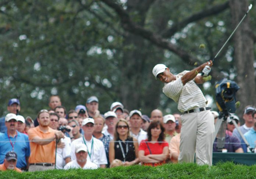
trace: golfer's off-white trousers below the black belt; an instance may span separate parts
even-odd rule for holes
[[[192,112],[181,116],[181,143],[179,162],[212,165],[214,117],[210,110]]]

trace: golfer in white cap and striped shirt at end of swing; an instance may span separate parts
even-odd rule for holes
[[[196,84],[204,83],[204,78],[210,72],[210,60],[192,71],[183,71],[173,75],[164,64],[157,64],[153,68],[153,75],[164,83],[163,93],[178,103],[181,116],[181,143],[179,162],[194,162],[199,165],[212,164],[212,150],[214,138],[214,118],[210,107],[206,107],[207,100]],[[204,76],[199,74],[202,71]]]

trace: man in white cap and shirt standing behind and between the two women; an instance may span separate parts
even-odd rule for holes
[[[147,132],[141,129],[142,124],[142,114],[141,111],[133,110],[129,114],[130,116],[130,124],[131,124],[131,130],[130,135],[132,137],[135,137],[135,139],[138,140],[139,143],[141,143],[142,140],[147,139]]]

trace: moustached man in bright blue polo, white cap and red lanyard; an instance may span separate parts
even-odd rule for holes
[[[28,158],[30,147],[28,136],[17,131],[17,116],[9,113],[5,117],[7,131],[0,135],[0,164],[3,164],[5,154],[8,151],[15,151],[18,154],[17,168],[28,169]]]

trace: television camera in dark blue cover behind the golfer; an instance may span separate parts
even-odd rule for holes
[[[216,105],[222,115],[228,116],[229,113],[236,111],[236,92],[240,89],[236,82],[224,78],[215,85]],[[220,115],[221,115],[220,114]]]

